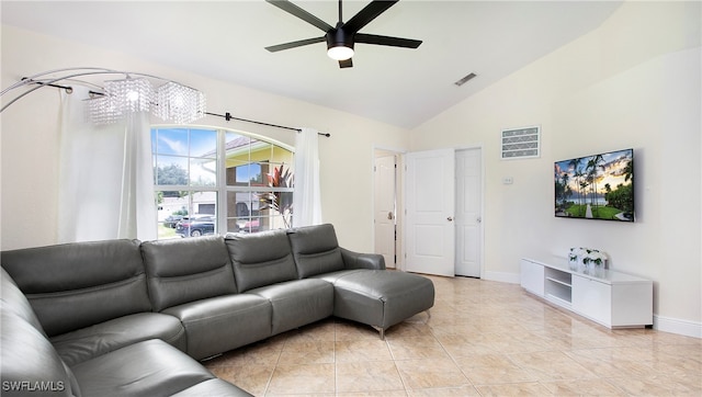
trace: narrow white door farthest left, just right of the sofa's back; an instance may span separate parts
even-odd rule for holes
[[[385,265],[388,268],[396,266],[395,165],[395,156],[384,156],[375,159],[374,168],[375,253],[385,258]]]

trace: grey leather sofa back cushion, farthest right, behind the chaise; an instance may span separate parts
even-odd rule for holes
[[[287,231],[301,279],[344,269],[333,226],[316,225]]]

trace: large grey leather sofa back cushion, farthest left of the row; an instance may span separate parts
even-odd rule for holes
[[[49,337],[151,310],[138,240],[4,251],[1,261]]]

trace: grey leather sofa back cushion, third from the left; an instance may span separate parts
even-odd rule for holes
[[[297,279],[285,230],[230,234],[225,242],[239,292]]]

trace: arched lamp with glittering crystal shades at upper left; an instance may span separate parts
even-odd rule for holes
[[[124,78],[106,80],[102,86],[78,80],[95,75],[117,75]],[[71,87],[59,84],[64,80],[99,87],[99,90],[90,91],[90,99],[86,101],[87,116],[94,124],[117,123],[129,114],[140,112],[150,112],[165,122],[178,124],[192,123],[205,116],[205,94],[199,90],[152,75],[93,67],[50,70],[23,78],[2,90],[1,94],[4,95],[16,89],[26,89],[9,101],[0,112],[42,87],[61,88],[71,93]],[[155,82],[160,83],[156,89]]]

